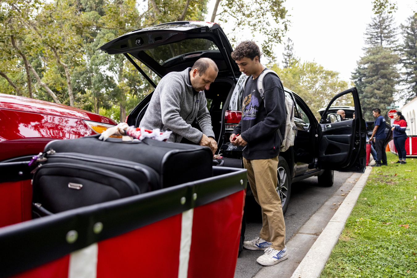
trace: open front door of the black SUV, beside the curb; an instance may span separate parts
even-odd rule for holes
[[[330,106],[349,104],[355,118],[328,113]],[[341,112],[342,114],[344,112]],[[337,94],[327,105],[319,123],[318,165],[326,170],[363,173],[366,158],[366,128],[356,88]]]

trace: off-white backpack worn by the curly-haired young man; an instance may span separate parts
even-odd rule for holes
[[[273,70],[266,69],[264,70],[258,78],[257,86],[259,94],[261,95],[261,98],[264,99],[264,77],[267,73],[272,73],[276,75],[279,79],[278,74],[274,72]],[[243,85],[243,88],[245,88],[246,83],[248,82],[249,78],[251,76],[248,76],[245,80],[245,83]],[[279,83],[281,83],[281,79],[279,79]],[[284,86],[281,83],[282,90],[284,90]],[[281,132],[278,132],[279,138],[281,139],[281,148],[279,149],[281,152],[285,152],[288,150],[289,147],[294,145],[295,137],[297,136],[297,127],[294,123],[294,101],[291,99],[290,96],[285,95],[285,112],[286,112],[286,118],[285,118],[285,131],[284,131],[284,137],[282,136]],[[264,102],[265,104],[265,102]]]

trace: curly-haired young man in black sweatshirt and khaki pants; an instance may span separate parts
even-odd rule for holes
[[[256,261],[261,265],[275,265],[288,258],[284,215],[276,191],[281,146],[278,133],[283,134],[281,128],[286,119],[284,88],[278,76],[267,73],[263,81],[264,98],[261,97],[256,83],[266,68],[261,64],[261,52],[255,42],[240,43],[231,57],[239,70],[251,78],[244,88],[242,120],[230,135],[230,142],[244,146],[243,163],[249,185],[262,208],[259,237],[245,241],[243,246],[250,250],[265,250]],[[235,135],[238,136],[234,138]]]

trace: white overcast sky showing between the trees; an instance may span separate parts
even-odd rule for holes
[[[356,68],[356,61],[363,55],[364,32],[374,16],[371,0],[286,0],[284,6],[291,15],[291,26],[286,37],[294,43],[294,52],[301,61],[316,61],[327,70],[335,70],[346,81]],[[209,0],[210,20],[215,0]],[[417,10],[415,0],[398,0],[394,13],[397,25]],[[216,20],[215,20],[216,21]],[[230,27],[221,25],[226,33]],[[228,30],[229,29],[229,30]],[[251,39],[242,37],[241,40]],[[286,38],[284,39],[286,41]],[[276,48],[279,62],[284,45]],[[281,63],[280,63],[281,64]]]

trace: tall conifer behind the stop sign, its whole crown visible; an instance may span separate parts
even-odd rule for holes
[[[399,56],[395,53],[397,30],[392,15],[378,14],[367,27],[365,55],[352,73],[357,87],[365,120],[373,120],[372,109],[380,108],[381,115],[387,117],[387,109],[397,91],[399,82],[397,64]]]

